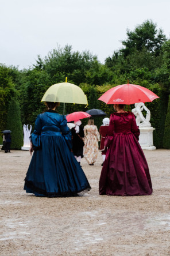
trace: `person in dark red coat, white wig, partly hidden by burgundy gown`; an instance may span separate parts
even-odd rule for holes
[[[107,151],[107,148],[105,146],[105,138],[108,131],[108,127],[109,127],[109,118],[104,118],[103,125],[99,129],[99,134],[101,135],[100,150],[102,152],[103,163],[105,161],[106,151]],[[102,166],[103,166],[103,163],[102,163]]]

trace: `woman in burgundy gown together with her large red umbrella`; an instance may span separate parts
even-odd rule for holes
[[[140,85],[118,85],[98,100],[113,104],[109,131],[105,140],[106,159],[99,179],[99,194],[150,195],[152,182],[144,152],[138,142],[140,130],[133,112],[125,104],[151,102],[159,97]]]

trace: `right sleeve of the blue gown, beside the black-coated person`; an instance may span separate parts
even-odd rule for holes
[[[67,142],[68,148],[72,149],[71,130],[67,126],[67,119],[64,117],[64,115],[61,116],[60,131]]]

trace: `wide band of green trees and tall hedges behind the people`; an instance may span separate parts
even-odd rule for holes
[[[29,69],[0,65],[0,129],[6,129],[7,109],[11,99],[17,98],[21,106],[22,125],[34,126],[36,116],[44,111],[42,96],[49,86],[64,82],[76,84],[87,95],[88,108],[83,104],[65,104],[65,114],[99,108],[109,117],[113,106],[97,99],[108,89],[119,84],[142,85],[160,99],[146,103],[151,112],[151,123],[156,128],[154,143],[163,147],[165,119],[168,96],[170,93],[170,41],[163,30],[151,20],[137,25],[133,31],[127,29],[127,38],[122,41],[122,48],[114,51],[103,65],[89,51],[73,51],[72,46],[57,46],[42,58],[37,56],[36,63]],[[130,110],[133,105],[130,106]],[[63,114],[63,103],[58,108]],[[87,119],[83,120],[86,124]],[[95,119],[98,127],[101,119]],[[167,126],[166,126],[167,127]],[[167,128],[166,128],[167,129]]]

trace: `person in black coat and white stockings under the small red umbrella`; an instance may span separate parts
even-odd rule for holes
[[[72,153],[74,153],[74,156],[78,163],[80,164],[80,161],[83,157],[83,137],[84,137],[84,131],[82,122],[80,120],[77,120],[74,122],[75,127],[71,129],[72,133]]]

